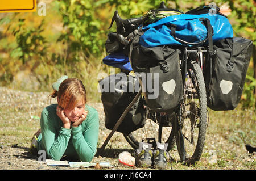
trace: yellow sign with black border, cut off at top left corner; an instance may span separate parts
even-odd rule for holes
[[[36,11],[36,0],[0,0],[0,12]]]

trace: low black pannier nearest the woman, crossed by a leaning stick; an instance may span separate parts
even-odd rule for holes
[[[137,78],[131,75],[118,73],[99,81],[99,86],[105,112],[105,127],[112,130],[126,107],[137,95],[139,82]],[[146,111],[144,111],[143,103],[144,99],[140,96],[122,120],[117,129],[118,132],[130,133],[144,127]]]

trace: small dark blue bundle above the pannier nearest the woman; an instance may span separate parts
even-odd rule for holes
[[[103,63],[106,65],[113,66],[114,68],[133,70],[129,62],[128,56],[123,53],[112,53],[103,58]]]

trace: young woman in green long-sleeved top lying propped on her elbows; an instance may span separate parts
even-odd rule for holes
[[[43,109],[32,152],[45,150],[48,159],[90,162],[97,148],[98,112],[86,104],[86,90],[79,79],[64,76],[52,87],[50,96],[57,97],[57,104]]]

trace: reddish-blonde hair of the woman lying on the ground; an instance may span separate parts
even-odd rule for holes
[[[61,82],[59,90],[53,91],[52,98],[59,98],[59,106],[63,109],[72,109],[82,100],[86,104],[86,90],[82,81],[77,78],[67,78]]]

